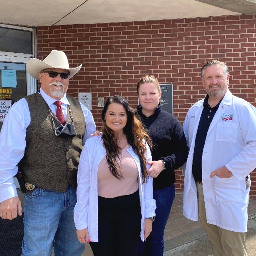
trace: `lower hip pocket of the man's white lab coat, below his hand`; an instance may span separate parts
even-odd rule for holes
[[[235,176],[230,178],[219,178],[215,176],[214,189],[216,201],[239,202],[242,200],[240,181]]]

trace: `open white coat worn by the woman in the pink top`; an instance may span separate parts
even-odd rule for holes
[[[128,148],[138,168],[139,196],[141,206],[141,240],[144,241],[144,219],[155,216],[156,203],[153,199],[153,178],[149,177],[142,183],[140,159]],[[88,139],[81,152],[77,174],[77,203],[74,208],[74,221],[76,229],[88,227],[90,240],[98,242],[98,165],[106,156],[101,136]],[[146,159],[151,161],[150,148],[146,144]],[[150,165],[147,165],[147,170]]]

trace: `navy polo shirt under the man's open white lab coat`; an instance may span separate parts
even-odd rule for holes
[[[194,155],[193,155],[193,163],[192,163],[192,174],[195,181],[202,181],[202,154],[203,149],[205,146],[206,135],[208,133],[210,124],[212,119],[219,108],[220,102],[211,108],[208,103],[209,95],[206,96],[204,103],[203,103],[203,111],[200,117],[200,122],[198,125],[196,138],[195,138],[195,148],[194,148]]]

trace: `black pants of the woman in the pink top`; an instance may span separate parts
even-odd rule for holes
[[[98,242],[94,256],[134,256],[141,232],[139,191],[115,198],[98,196]]]

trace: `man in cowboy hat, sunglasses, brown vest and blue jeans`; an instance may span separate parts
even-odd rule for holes
[[[39,92],[16,102],[0,135],[0,217],[22,214],[13,176],[25,182],[23,256],[80,256],[73,209],[79,156],[96,129],[91,112],[66,95],[69,68],[64,52],[53,50],[43,61],[27,62],[27,71],[41,82]],[[86,127],[86,129],[85,129]],[[18,166],[18,167],[17,167]]]

